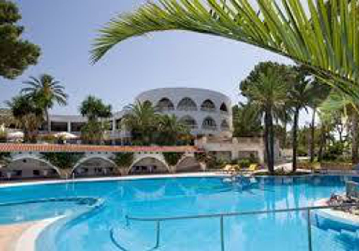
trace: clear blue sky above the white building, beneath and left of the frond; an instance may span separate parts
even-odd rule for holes
[[[24,37],[39,44],[42,56],[16,80],[0,77],[0,106],[16,95],[29,76],[49,73],[60,80],[69,104],[52,113],[76,114],[87,95],[96,95],[114,110],[141,91],[171,86],[208,88],[239,101],[239,82],[260,61],[292,61],[246,44],[187,32],[153,33],[129,39],[90,65],[89,50],[97,29],[117,13],[144,0],[17,0]]]

